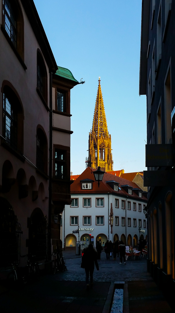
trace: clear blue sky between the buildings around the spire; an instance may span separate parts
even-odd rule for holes
[[[85,80],[71,90],[73,175],[86,168],[99,76],[114,170],[146,170],[146,96],[139,96],[141,0],[34,3],[57,64]]]

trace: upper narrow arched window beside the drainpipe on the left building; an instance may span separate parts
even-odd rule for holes
[[[37,87],[36,90],[40,95],[41,100],[47,104],[47,71],[44,60],[40,54],[37,53]]]

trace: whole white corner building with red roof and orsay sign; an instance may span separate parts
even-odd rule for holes
[[[135,183],[106,174],[98,188],[93,169],[87,168],[71,185],[71,205],[62,217],[62,241],[65,249],[81,248],[85,241],[123,240],[136,246],[139,238],[147,239],[147,221],[143,212],[146,194]],[[77,190],[77,192],[73,192]],[[78,233],[73,233],[74,230]],[[140,232],[139,232],[140,230]]]

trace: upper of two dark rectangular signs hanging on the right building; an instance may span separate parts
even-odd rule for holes
[[[145,145],[146,167],[173,166],[173,144]]]

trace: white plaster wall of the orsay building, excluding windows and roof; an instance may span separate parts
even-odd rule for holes
[[[103,198],[104,197],[104,207],[96,207],[95,206],[95,198]],[[94,236],[94,242],[96,240],[97,235],[100,233],[106,234],[108,237],[108,223],[109,223],[109,215],[110,215],[110,210],[111,210],[111,203],[113,207],[113,213],[114,213],[114,222],[113,222],[113,227],[112,227],[112,234],[111,234],[111,225],[109,225],[109,240],[113,241],[115,233],[118,234],[119,239],[121,238],[122,234],[125,234],[128,236],[130,234],[132,236],[132,243],[133,243],[133,237],[136,234],[139,239],[139,230],[138,230],[138,219],[142,219],[142,228],[145,230],[145,233],[140,233],[143,234],[144,238],[147,235],[147,229],[143,228],[143,220],[145,219],[145,215],[143,213],[143,204],[146,204],[145,202],[140,202],[136,199],[129,199],[131,201],[131,210],[123,210],[121,209],[121,199],[124,200],[125,197],[116,197],[114,195],[109,195],[109,215],[108,215],[108,195],[105,194],[98,194],[98,195],[90,195],[90,194],[72,194],[71,198],[78,198],[78,208],[71,208],[69,205],[65,206],[64,212],[63,212],[63,244],[64,244],[64,233],[65,237],[68,234],[72,234],[72,231],[77,229],[77,225],[72,225],[70,226],[70,216],[78,216],[79,220],[79,228],[91,228],[90,231],[84,231],[80,230],[80,238],[83,234],[85,233],[91,233],[92,236]],[[83,198],[91,198],[91,208],[83,208]],[[115,208],[115,198],[119,198],[119,206],[120,208]],[[132,210],[132,203],[136,202],[137,203],[137,211]],[[142,203],[142,212],[138,212],[138,203]],[[125,217],[126,214],[126,223],[127,223],[127,218],[131,218],[131,227],[128,227],[126,224],[125,226],[121,226],[121,217]],[[104,225],[96,225],[96,216],[104,216]],[[64,221],[64,216],[65,216],[65,221]],[[84,225],[83,226],[83,216],[92,216],[92,223],[91,225]],[[115,226],[115,216],[119,216],[119,226]],[[137,219],[137,227],[133,227],[133,218]],[[64,225],[65,225],[65,232],[64,232]],[[93,230],[92,230],[93,229]],[[78,234],[75,234],[77,237],[77,242],[78,242]]]

